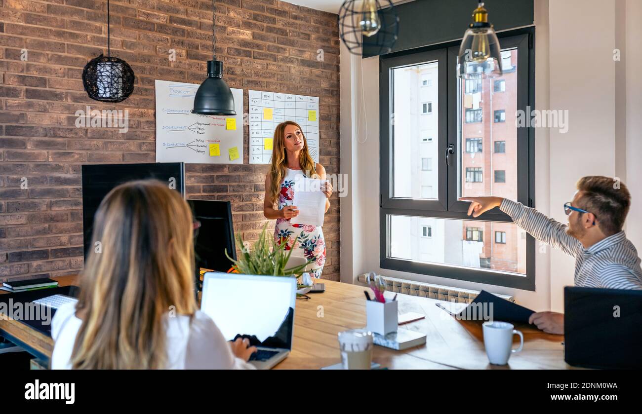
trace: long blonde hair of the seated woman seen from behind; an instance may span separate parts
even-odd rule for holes
[[[82,272],[74,369],[165,367],[168,312],[196,311],[192,235],[191,211],[167,184],[128,182],[105,196]]]

